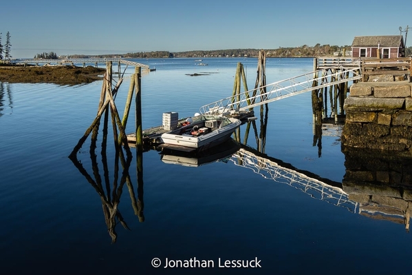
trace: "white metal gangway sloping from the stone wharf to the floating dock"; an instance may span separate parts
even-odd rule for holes
[[[360,60],[338,63],[297,77],[264,85],[253,90],[226,97],[200,108],[202,114],[228,114],[248,110],[289,96],[318,90],[339,83],[361,79]]]

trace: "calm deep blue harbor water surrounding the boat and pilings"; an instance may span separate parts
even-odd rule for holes
[[[238,62],[245,66],[249,88],[256,79],[257,59],[137,61],[156,68],[142,76],[144,128],[161,125],[163,112],[191,116],[230,96]],[[267,83],[310,72],[312,62],[268,59]],[[120,114],[132,72],[126,70],[116,98]],[[193,73],[204,75],[188,75]],[[101,86],[102,81],[0,83],[2,274],[398,274],[409,269],[412,236],[403,222],[359,214],[358,203],[336,199],[334,192],[343,194],[340,188],[326,191],[329,185],[309,180],[324,189],[321,194],[291,183],[292,177],[306,181],[303,174],[311,174],[341,187],[347,170],[338,129],[322,136],[321,148],[314,144],[310,93],[269,104],[265,154],[256,152],[250,130],[248,147],[198,167],[168,163],[155,150],[144,152],[138,179],[135,150],[124,170],[111,138],[106,154],[100,152],[101,134],[94,153],[88,139],[78,163],[67,157],[96,116]],[[259,108],[254,111],[259,136]],[[127,132],[135,127],[133,112],[130,117]],[[243,141],[246,125],[240,131]],[[254,165],[258,156],[269,164]],[[276,161],[289,165],[283,169]],[[293,174],[290,165],[303,174]],[[131,183],[122,183],[122,174]],[[160,267],[153,267],[158,260]],[[238,267],[242,264],[248,267]]]

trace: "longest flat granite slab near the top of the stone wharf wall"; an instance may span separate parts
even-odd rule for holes
[[[354,111],[372,111],[372,110],[396,110],[401,109],[404,105],[404,98],[376,98],[376,97],[356,97],[348,96],[345,99],[343,108]]]

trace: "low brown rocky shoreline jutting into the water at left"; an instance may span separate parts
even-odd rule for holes
[[[106,69],[74,65],[23,66],[0,64],[0,82],[79,85],[103,78]]]

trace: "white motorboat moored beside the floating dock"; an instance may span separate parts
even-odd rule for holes
[[[241,121],[225,116],[198,115],[183,124],[162,134],[160,147],[182,151],[205,150],[227,141]]]

